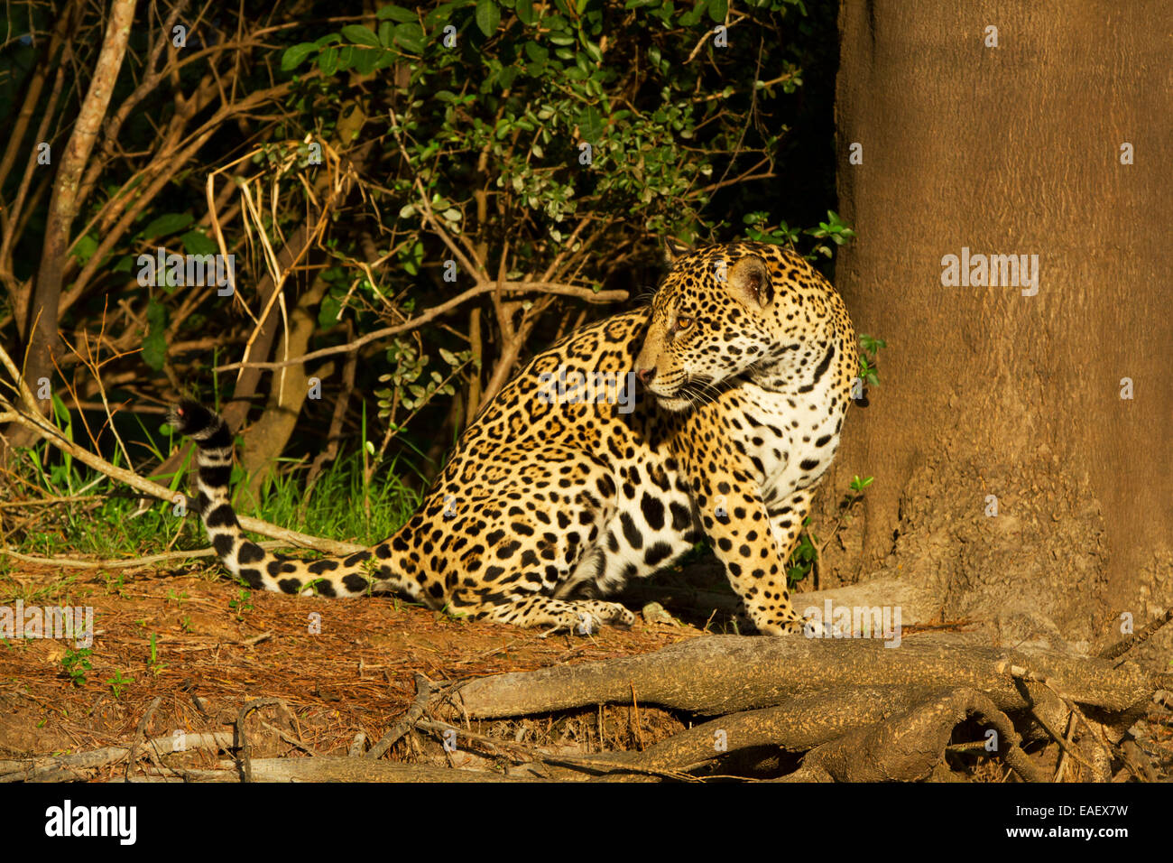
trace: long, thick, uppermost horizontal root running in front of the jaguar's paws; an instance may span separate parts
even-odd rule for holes
[[[642,703],[705,715],[875,686],[968,686],[985,692],[998,709],[1026,709],[1032,703],[1028,692],[1042,683],[1017,680],[1011,667],[1037,668],[1069,699],[1112,712],[1147,702],[1168,676],[1132,663],[975,647],[937,633],[906,640],[897,649],[875,640],[713,635],[643,656],[497,674],[467,683],[460,694],[468,715],[482,719],[626,703],[632,687]]]

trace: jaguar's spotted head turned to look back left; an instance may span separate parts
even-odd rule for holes
[[[636,375],[662,407],[708,402],[772,358],[778,285],[767,256],[758,244],[731,243],[671,258],[636,358]]]

